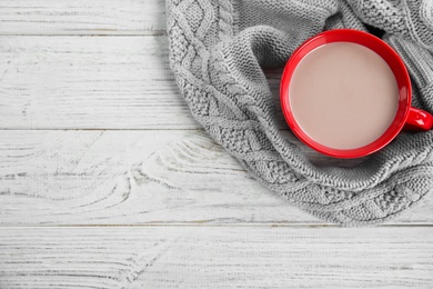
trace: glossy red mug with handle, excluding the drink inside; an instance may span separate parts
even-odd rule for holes
[[[290,82],[296,66],[313,49],[333,42],[351,42],[361,44],[377,53],[391,68],[399,88],[399,103],[395,118],[385,132],[375,141],[354,149],[335,149],[315,141],[301,128],[293,116],[290,103]],[[324,155],[335,158],[361,158],[371,155],[390,143],[404,128],[426,131],[433,127],[433,116],[426,111],[411,107],[411,79],[400,56],[383,40],[370,33],[352,30],[330,30],[310,38],[301,44],[289,59],[281,79],[280,101],[284,118],[293,133],[305,144]]]

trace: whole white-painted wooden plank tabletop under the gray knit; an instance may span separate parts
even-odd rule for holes
[[[273,196],[191,118],[164,10],[0,0],[0,288],[433,288],[432,196],[364,229]]]

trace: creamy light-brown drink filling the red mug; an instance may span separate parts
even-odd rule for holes
[[[321,46],[296,66],[289,101],[301,129],[334,149],[355,149],[380,138],[392,123],[399,88],[387,63],[350,42]]]

